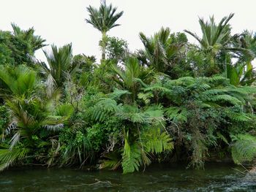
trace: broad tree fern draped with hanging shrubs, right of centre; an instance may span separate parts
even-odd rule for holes
[[[191,154],[190,165],[193,166],[203,166],[208,148],[217,147],[219,134],[227,134],[222,126],[252,124],[250,115],[241,106],[252,101],[248,95],[255,93],[255,89],[236,88],[229,85],[225,77],[163,78],[146,86],[143,91],[164,101],[162,105],[165,106],[172,137],[176,137],[177,145],[182,141],[181,147],[187,148]]]

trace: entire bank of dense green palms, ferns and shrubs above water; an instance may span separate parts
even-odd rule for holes
[[[34,53],[34,28],[0,31],[0,169],[42,164],[145,169],[154,162],[256,157],[256,35],[231,34],[233,14],[192,31],[140,33],[135,53],[107,32],[123,12],[102,1],[86,22],[102,33],[102,59],[72,45]],[[83,19],[83,18],[82,18]],[[198,44],[191,44],[192,35]]]

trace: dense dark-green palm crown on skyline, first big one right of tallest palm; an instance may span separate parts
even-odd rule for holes
[[[170,34],[170,28],[161,28],[152,37],[146,37],[140,32],[140,39],[145,47],[140,53],[146,57],[147,65],[153,66],[157,72],[170,74],[170,69],[177,63],[186,40],[178,40],[175,34]]]

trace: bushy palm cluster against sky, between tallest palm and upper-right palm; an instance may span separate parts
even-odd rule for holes
[[[185,53],[185,44],[187,37],[183,33],[170,34],[170,28],[161,28],[159,32],[152,37],[146,37],[140,33],[140,39],[143,42],[145,50],[138,52],[138,58],[146,66],[153,66],[157,72],[165,72],[172,77],[176,77],[174,70],[189,70],[181,62]]]

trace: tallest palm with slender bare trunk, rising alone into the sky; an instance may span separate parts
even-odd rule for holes
[[[102,40],[99,42],[99,45],[102,47],[102,60],[105,59],[107,32],[111,28],[120,26],[120,24],[116,24],[116,20],[124,14],[123,11],[116,13],[116,9],[117,7],[113,7],[112,4],[107,5],[105,0],[101,2],[99,9],[91,6],[87,7],[90,18],[86,19],[86,22],[102,33]]]

